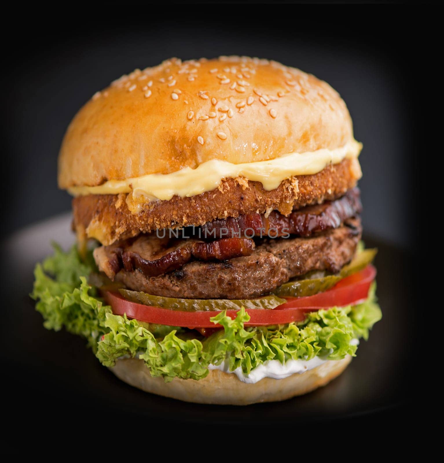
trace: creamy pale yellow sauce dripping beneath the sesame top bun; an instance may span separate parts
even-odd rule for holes
[[[86,194],[131,193],[137,202],[170,200],[212,191],[224,178],[243,177],[249,181],[260,181],[267,191],[277,188],[283,180],[294,175],[317,174],[329,164],[338,164],[345,158],[356,158],[362,144],[352,140],[334,150],[322,149],[305,153],[288,153],[269,161],[232,164],[212,159],[196,169],[186,167],[171,174],[150,174],[126,180],[108,180],[96,187],[72,187],[74,196]]]

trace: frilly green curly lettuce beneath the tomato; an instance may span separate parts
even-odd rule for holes
[[[381,319],[375,301],[375,285],[364,303],[332,307],[307,314],[303,322],[275,326],[245,327],[250,317],[244,308],[235,319],[221,312],[211,320],[223,330],[208,338],[186,329],[150,325],[126,315],[114,315],[104,305],[87,276],[95,271],[90,256],[83,262],[75,248],[55,253],[37,264],[31,297],[47,329],[69,332],[87,339],[100,362],[113,367],[119,357],[142,359],[152,376],[165,381],[178,377],[199,380],[208,375],[208,365],[228,360],[231,371],[241,367],[245,374],[268,360],[324,356],[339,360],[356,355],[356,338],[367,339],[369,330]],[[49,276],[51,275],[51,276]]]

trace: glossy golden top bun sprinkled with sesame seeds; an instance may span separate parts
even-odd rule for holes
[[[353,138],[344,101],[299,69],[246,57],[165,61],[98,92],[59,156],[61,188],[334,149]]]

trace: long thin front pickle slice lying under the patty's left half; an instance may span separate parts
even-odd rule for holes
[[[119,289],[126,299],[145,306],[161,307],[183,312],[219,311],[246,309],[274,309],[287,301],[276,295],[263,296],[257,299],[176,299],[174,297],[153,296],[152,294]]]

